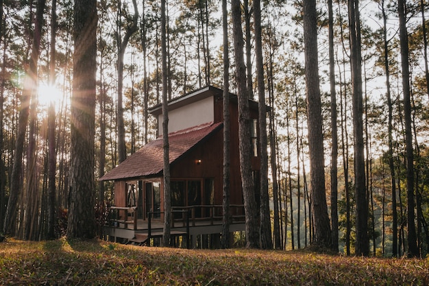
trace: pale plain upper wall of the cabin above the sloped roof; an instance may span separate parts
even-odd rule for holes
[[[212,122],[215,119],[213,97],[207,97],[169,111],[169,133]],[[158,116],[158,134],[162,135],[162,114]]]

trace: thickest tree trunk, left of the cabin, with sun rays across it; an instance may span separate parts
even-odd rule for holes
[[[69,238],[92,239],[97,230],[94,217],[97,21],[96,0],[75,0]]]

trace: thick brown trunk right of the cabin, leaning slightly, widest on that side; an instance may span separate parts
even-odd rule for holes
[[[325,171],[323,160],[323,133],[319,68],[317,58],[316,1],[304,1],[304,53],[306,65],[306,93],[308,120],[308,147],[310,149],[310,178],[314,228],[312,243],[331,246],[331,228],[326,204]]]

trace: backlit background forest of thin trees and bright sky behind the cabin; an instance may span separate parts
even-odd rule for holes
[[[14,184],[20,191],[10,235],[31,240],[60,237],[69,208],[73,1],[0,3],[0,224],[5,221]],[[265,94],[273,108],[269,156],[274,176],[269,178],[269,191],[271,214],[279,218],[273,224],[280,225],[280,245],[275,247],[304,248],[312,242],[313,230],[302,3],[277,0],[261,4]],[[352,45],[347,4],[318,1],[317,40],[328,209],[338,209],[338,225],[333,224],[332,229],[339,234],[339,250],[354,254]],[[365,0],[358,5],[368,233],[371,254],[401,256],[408,251],[407,211],[412,211],[419,254],[424,256],[429,241],[428,3],[406,3],[410,110],[404,106],[397,4]],[[247,93],[256,100],[254,9],[252,1],[241,5]],[[101,0],[97,14],[97,189],[91,191],[97,206],[102,206],[112,201],[113,185],[97,178],[156,138],[155,119],[147,109],[161,102],[162,53],[159,1]],[[207,85],[223,88],[221,19],[221,1],[168,1],[169,99]],[[232,23],[228,25],[232,33]],[[230,55],[234,55],[233,47],[230,43]],[[230,63],[230,91],[234,93],[234,58]],[[27,94],[24,87],[32,73],[38,87]],[[20,114],[25,112],[23,122]],[[414,204],[407,200],[406,112],[412,119]],[[16,150],[20,138],[21,151]],[[22,154],[22,159],[16,154]],[[16,160],[22,165],[14,164]],[[335,176],[330,175],[332,170]],[[12,180],[14,171],[21,174],[18,182]],[[52,209],[55,222],[49,221]],[[273,210],[278,211],[276,215]],[[330,217],[332,220],[331,213]],[[56,233],[49,233],[49,224],[55,224]]]

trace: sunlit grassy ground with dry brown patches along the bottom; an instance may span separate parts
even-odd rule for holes
[[[429,259],[8,238],[0,285],[429,285]]]

